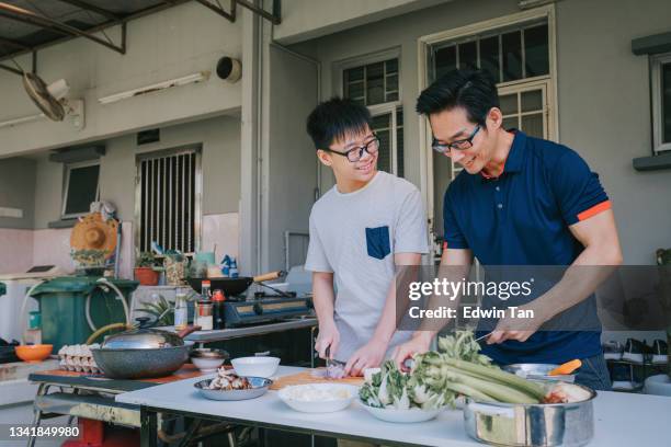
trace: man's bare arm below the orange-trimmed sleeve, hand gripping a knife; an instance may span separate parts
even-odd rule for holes
[[[619,238],[611,209],[578,221],[569,229],[584,245],[582,253],[567,268],[559,283],[543,296],[522,306],[523,309],[534,312],[534,318],[525,322],[528,326],[521,328],[519,320],[502,319],[497,330],[487,339],[487,343],[501,343],[505,340],[526,341],[543,323],[592,295],[611,275],[614,267],[622,264]]]

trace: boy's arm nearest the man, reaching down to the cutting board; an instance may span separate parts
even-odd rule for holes
[[[421,259],[422,255],[419,253],[396,253],[394,255],[396,265],[419,265]],[[348,359],[345,374],[361,376],[364,369],[378,367],[385,358],[394,332],[396,332],[396,280],[389,285],[385,307],[373,337]]]

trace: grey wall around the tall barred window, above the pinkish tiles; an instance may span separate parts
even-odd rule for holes
[[[203,145],[203,214],[237,213],[240,200],[240,121],[219,116],[161,128],[161,140],[138,147],[135,134],[105,141],[100,164],[100,196],[112,202],[122,220],[134,220],[135,156],[137,153]],[[37,163],[35,228],[60,218],[62,163],[43,158]]]

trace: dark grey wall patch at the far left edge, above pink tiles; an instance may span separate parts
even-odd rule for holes
[[[0,208],[14,208],[23,217],[2,217],[0,228],[33,228],[35,161],[24,158],[0,160]]]

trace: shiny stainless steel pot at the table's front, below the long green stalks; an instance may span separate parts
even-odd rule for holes
[[[509,404],[466,399],[466,433],[484,443],[505,446],[583,446],[594,435],[592,400],[576,403]]]

